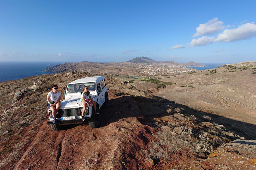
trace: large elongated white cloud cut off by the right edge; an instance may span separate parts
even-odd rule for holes
[[[238,28],[226,29],[218,35],[214,42],[235,42],[239,40],[246,40],[256,36],[256,25],[254,23],[247,23]]]

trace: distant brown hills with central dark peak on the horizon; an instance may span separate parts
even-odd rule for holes
[[[193,62],[193,61],[191,61]],[[205,64],[194,63],[196,66],[205,66]],[[190,65],[189,65],[190,66]],[[136,57],[129,61],[124,62],[112,62],[112,63],[100,63],[100,62],[76,62],[76,63],[64,63],[55,66],[48,67],[43,71],[51,71],[55,73],[82,71],[88,72],[93,75],[120,75],[120,76],[135,76],[139,75],[139,72],[152,72],[152,67],[155,70],[160,69],[174,69],[177,67],[179,70],[191,71],[186,68],[183,63],[176,63],[175,61],[155,61],[148,57]],[[153,71],[154,72],[154,71]],[[166,74],[168,71],[157,74]],[[175,72],[174,72],[175,73]]]

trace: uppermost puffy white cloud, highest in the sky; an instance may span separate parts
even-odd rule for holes
[[[217,17],[213,18],[212,20],[209,20],[205,24],[199,24],[199,27],[196,28],[197,32],[192,37],[218,33],[219,31],[225,28],[222,24],[223,22],[218,21]]]

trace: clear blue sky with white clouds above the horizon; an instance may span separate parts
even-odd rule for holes
[[[256,1],[0,1],[0,61],[256,61]]]

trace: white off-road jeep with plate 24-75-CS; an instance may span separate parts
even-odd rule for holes
[[[62,125],[85,123],[81,115],[83,106],[80,106],[81,94],[83,87],[88,86],[92,100],[97,104],[97,112],[100,113],[101,107],[108,108],[108,89],[104,76],[85,77],[75,80],[68,84],[65,92],[65,100],[61,102],[61,107],[57,112],[57,123],[53,124],[52,112],[49,109],[48,115],[50,121],[47,122],[53,130],[60,130]],[[87,104],[84,113],[85,121],[88,121],[90,128],[97,128],[100,121],[100,114],[94,113],[93,104]]]

